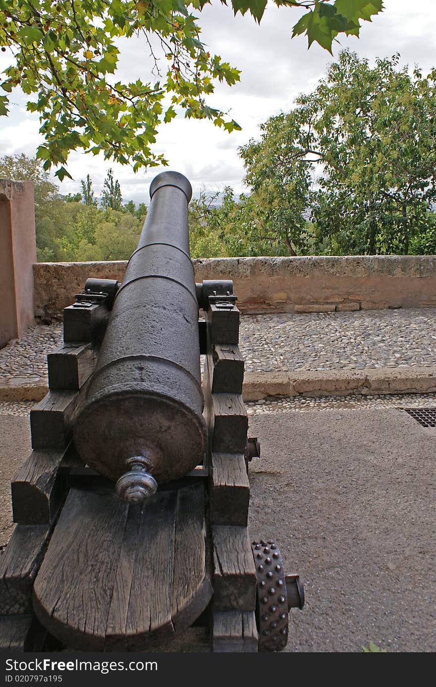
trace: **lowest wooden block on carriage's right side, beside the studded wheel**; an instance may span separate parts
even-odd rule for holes
[[[214,653],[257,653],[254,612],[214,611]]]

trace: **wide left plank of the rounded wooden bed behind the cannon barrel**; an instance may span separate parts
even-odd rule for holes
[[[34,610],[74,649],[103,651],[128,506],[113,491],[70,489],[34,582]]]

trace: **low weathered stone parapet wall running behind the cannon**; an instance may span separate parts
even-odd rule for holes
[[[88,277],[121,280],[126,264],[34,264],[36,317],[60,317]],[[194,267],[197,282],[233,279],[248,313],[436,307],[436,256],[203,258]]]

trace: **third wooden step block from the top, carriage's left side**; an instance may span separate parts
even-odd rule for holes
[[[30,411],[32,449],[64,449],[71,439],[74,420],[86,394],[87,383],[77,391],[49,391]]]

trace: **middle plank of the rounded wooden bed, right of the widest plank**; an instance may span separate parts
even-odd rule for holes
[[[171,611],[176,504],[176,491],[162,491],[143,510],[126,624],[128,651],[174,637]]]

